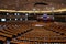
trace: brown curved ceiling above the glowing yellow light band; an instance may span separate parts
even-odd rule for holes
[[[47,3],[48,6],[35,6],[35,3]],[[15,11],[51,11],[66,9],[66,0],[0,0],[0,9]]]

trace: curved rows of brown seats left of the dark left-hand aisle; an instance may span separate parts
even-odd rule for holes
[[[18,36],[22,32],[31,29],[29,26],[30,23],[0,23],[0,35],[6,37],[13,37],[13,35]]]

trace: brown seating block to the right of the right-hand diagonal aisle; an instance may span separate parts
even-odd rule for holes
[[[51,23],[48,26],[45,26],[46,29],[61,34],[66,35],[66,25],[61,23]]]

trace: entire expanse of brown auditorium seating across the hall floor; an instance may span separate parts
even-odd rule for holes
[[[43,24],[44,26],[37,28],[34,26],[34,24]],[[56,42],[57,38],[65,38],[66,36],[66,25],[64,23],[57,22],[57,23],[43,23],[43,22],[6,22],[0,23],[0,40],[6,41],[8,37],[12,38],[11,42],[19,43],[24,42],[26,44],[28,42],[31,44],[44,44],[44,42],[52,42],[48,44],[53,44],[53,42]],[[30,31],[30,29],[32,29]],[[29,33],[26,33],[30,31]],[[25,33],[25,34],[23,34]],[[53,37],[57,37],[56,41],[54,41]],[[14,40],[16,38],[16,40]],[[53,40],[47,40],[53,38]],[[38,43],[40,42],[40,43]],[[65,40],[58,40],[57,42],[65,42]],[[47,43],[45,43],[47,44]],[[63,43],[54,43],[54,44],[63,44]]]

